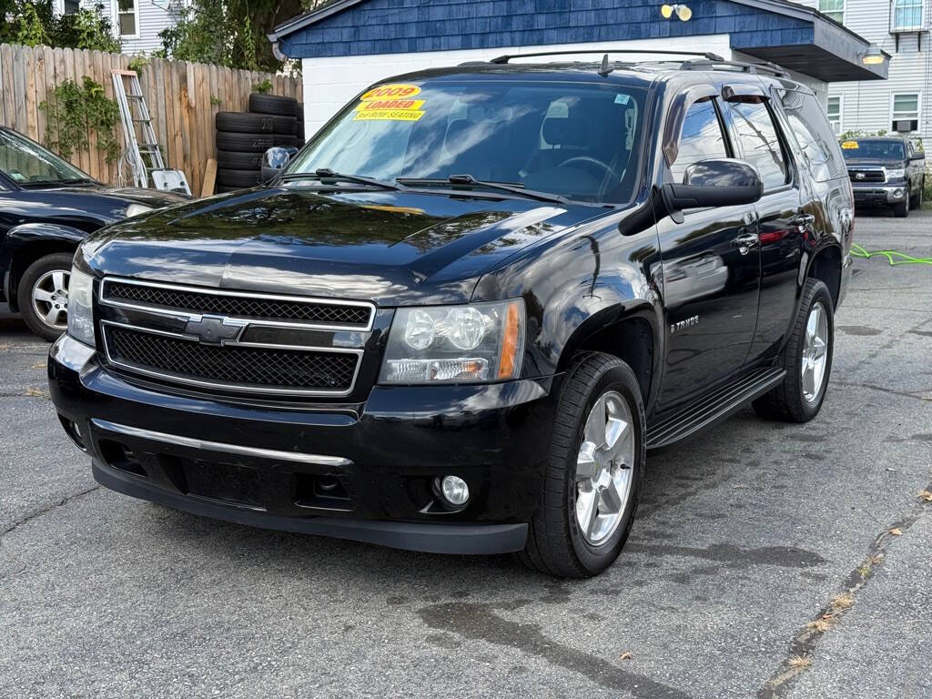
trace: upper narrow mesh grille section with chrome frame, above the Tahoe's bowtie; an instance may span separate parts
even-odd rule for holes
[[[372,304],[199,289],[157,282],[104,280],[101,297],[116,306],[216,313],[260,322],[307,324],[321,329],[368,330]]]

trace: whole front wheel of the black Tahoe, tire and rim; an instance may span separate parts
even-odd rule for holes
[[[521,562],[565,578],[607,569],[634,521],[645,445],[634,372],[608,354],[581,355],[560,390],[541,503]]]

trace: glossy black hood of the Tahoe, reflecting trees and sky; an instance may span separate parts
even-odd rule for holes
[[[608,210],[531,199],[283,186],[129,219],[91,236],[98,274],[215,288],[462,303],[537,240]]]

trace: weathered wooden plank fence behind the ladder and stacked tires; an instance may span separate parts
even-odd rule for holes
[[[110,71],[128,69],[130,56],[71,48],[0,46],[0,124],[45,144],[46,113],[39,104],[66,80],[80,85],[85,75],[113,97]],[[217,65],[149,59],[140,75],[145,103],[170,168],[185,171],[191,191],[199,195],[208,158],[215,157],[213,117],[218,111],[242,112],[253,86],[269,80],[270,94],[302,99],[301,81],[293,77],[231,70]],[[122,150],[123,133],[117,126]],[[107,163],[89,134],[90,148],[71,160],[102,182],[117,185],[117,163]],[[128,169],[124,184],[132,184]]]

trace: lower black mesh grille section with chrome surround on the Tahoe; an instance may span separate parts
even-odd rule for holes
[[[207,345],[143,328],[103,325],[111,363],[214,388],[346,394],[360,360],[355,351]]]

